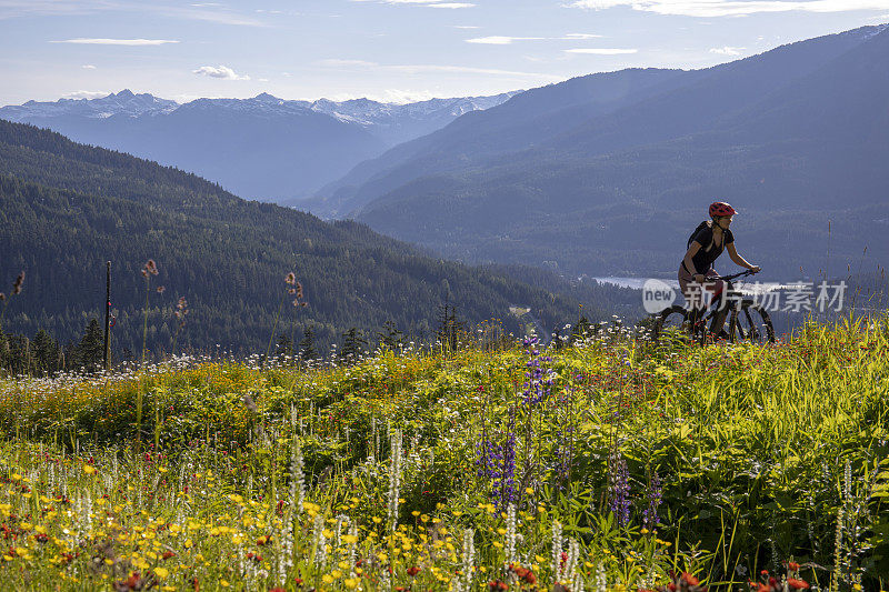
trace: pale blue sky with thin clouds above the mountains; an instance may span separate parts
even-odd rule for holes
[[[889,0],[0,0],[0,104],[150,92],[408,102],[697,69],[889,22]]]

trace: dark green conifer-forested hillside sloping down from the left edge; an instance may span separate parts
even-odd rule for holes
[[[462,321],[501,319],[516,332],[523,328],[510,307],[527,307],[549,329],[573,322],[581,302],[540,287],[556,287],[555,277],[531,274],[531,285],[442,261],[357,222],[327,223],[244,201],[196,175],[7,121],[0,121],[0,282],[11,285],[26,271],[24,291],[8,301],[3,331],[79,338],[88,320],[103,313],[104,262],[111,260],[117,359],[141,350],[140,269],[148,259],[160,268],[149,293],[148,345],[154,351],[171,348],[179,297],[191,310],[180,348],[214,351],[219,344],[240,353],[264,352],[272,328],[276,340],[283,333],[294,341],[311,329],[323,348],[351,327],[373,344],[387,322],[408,339],[430,341],[444,303]],[[304,287],[306,308],[291,305],[290,271]],[[602,305],[613,293],[620,291],[586,292],[587,317],[605,318]]]

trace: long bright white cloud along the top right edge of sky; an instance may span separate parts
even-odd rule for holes
[[[889,0],[575,0],[568,8],[605,10],[630,7],[633,10],[682,17],[743,17],[759,12],[849,12],[885,10]]]

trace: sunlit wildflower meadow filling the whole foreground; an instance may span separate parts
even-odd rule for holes
[[[0,589],[889,581],[886,317],[261,361],[1,379]]]

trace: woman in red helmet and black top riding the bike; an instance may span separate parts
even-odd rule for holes
[[[686,297],[686,302],[695,309],[691,313],[692,324],[696,314],[706,310],[703,290],[711,292],[715,298],[722,297],[722,280],[708,282],[707,279],[719,277],[713,269],[713,261],[722,254],[723,250],[728,250],[731,260],[742,268],[747,268],[753,273],[760,270],[759,265],[748,263],[735,249],[735,237],[729,230],[732,217],[738,213],[735,208],[723,201],[715,201],[710,204],[709,213],[710,220],[701,222],[689,239],[688,251],[682,259],[682,264],[679,265],[679,289]],[[722,331],[725,321],[725,314],[713,315],[710,333],[721,338],[728,337]]]

